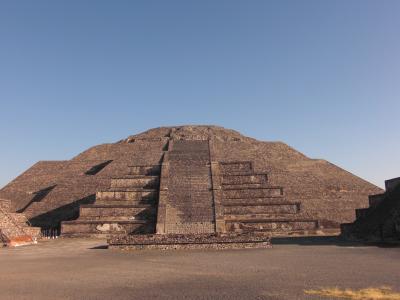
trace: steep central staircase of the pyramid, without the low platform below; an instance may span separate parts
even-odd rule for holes
[[[168,165],[163,177],[167,184],[164,229],[160,229],[160,216],[158,232],[213,233],[215,218],[208,141],[177,140],[171,144],[163,161],[163,166]]]

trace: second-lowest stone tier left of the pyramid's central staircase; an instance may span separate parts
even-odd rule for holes
[[[151,205],[81,205],[79,218],[108,218],[135,217],[136,219],[147,219],[156,214],[156,208]]]

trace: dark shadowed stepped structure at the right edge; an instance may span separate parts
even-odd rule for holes
[[[341,224],[350,240],[400,240],[400,177],[385,181],[386,191],[369,196],[369,207],[356,209],[353,223]]]

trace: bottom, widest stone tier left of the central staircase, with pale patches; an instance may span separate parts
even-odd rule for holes
[[[154,233],[155,222],[149,220],[75,220],[61,223],[64,236],[104,236],[112,233]]]

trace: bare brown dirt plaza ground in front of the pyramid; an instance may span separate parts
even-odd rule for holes
[[[328,299],[325,287],[400,292],[400,248],[335,237],[273,240],[272,249],[118,251],[57,239],[0,249],[0,299]]]

